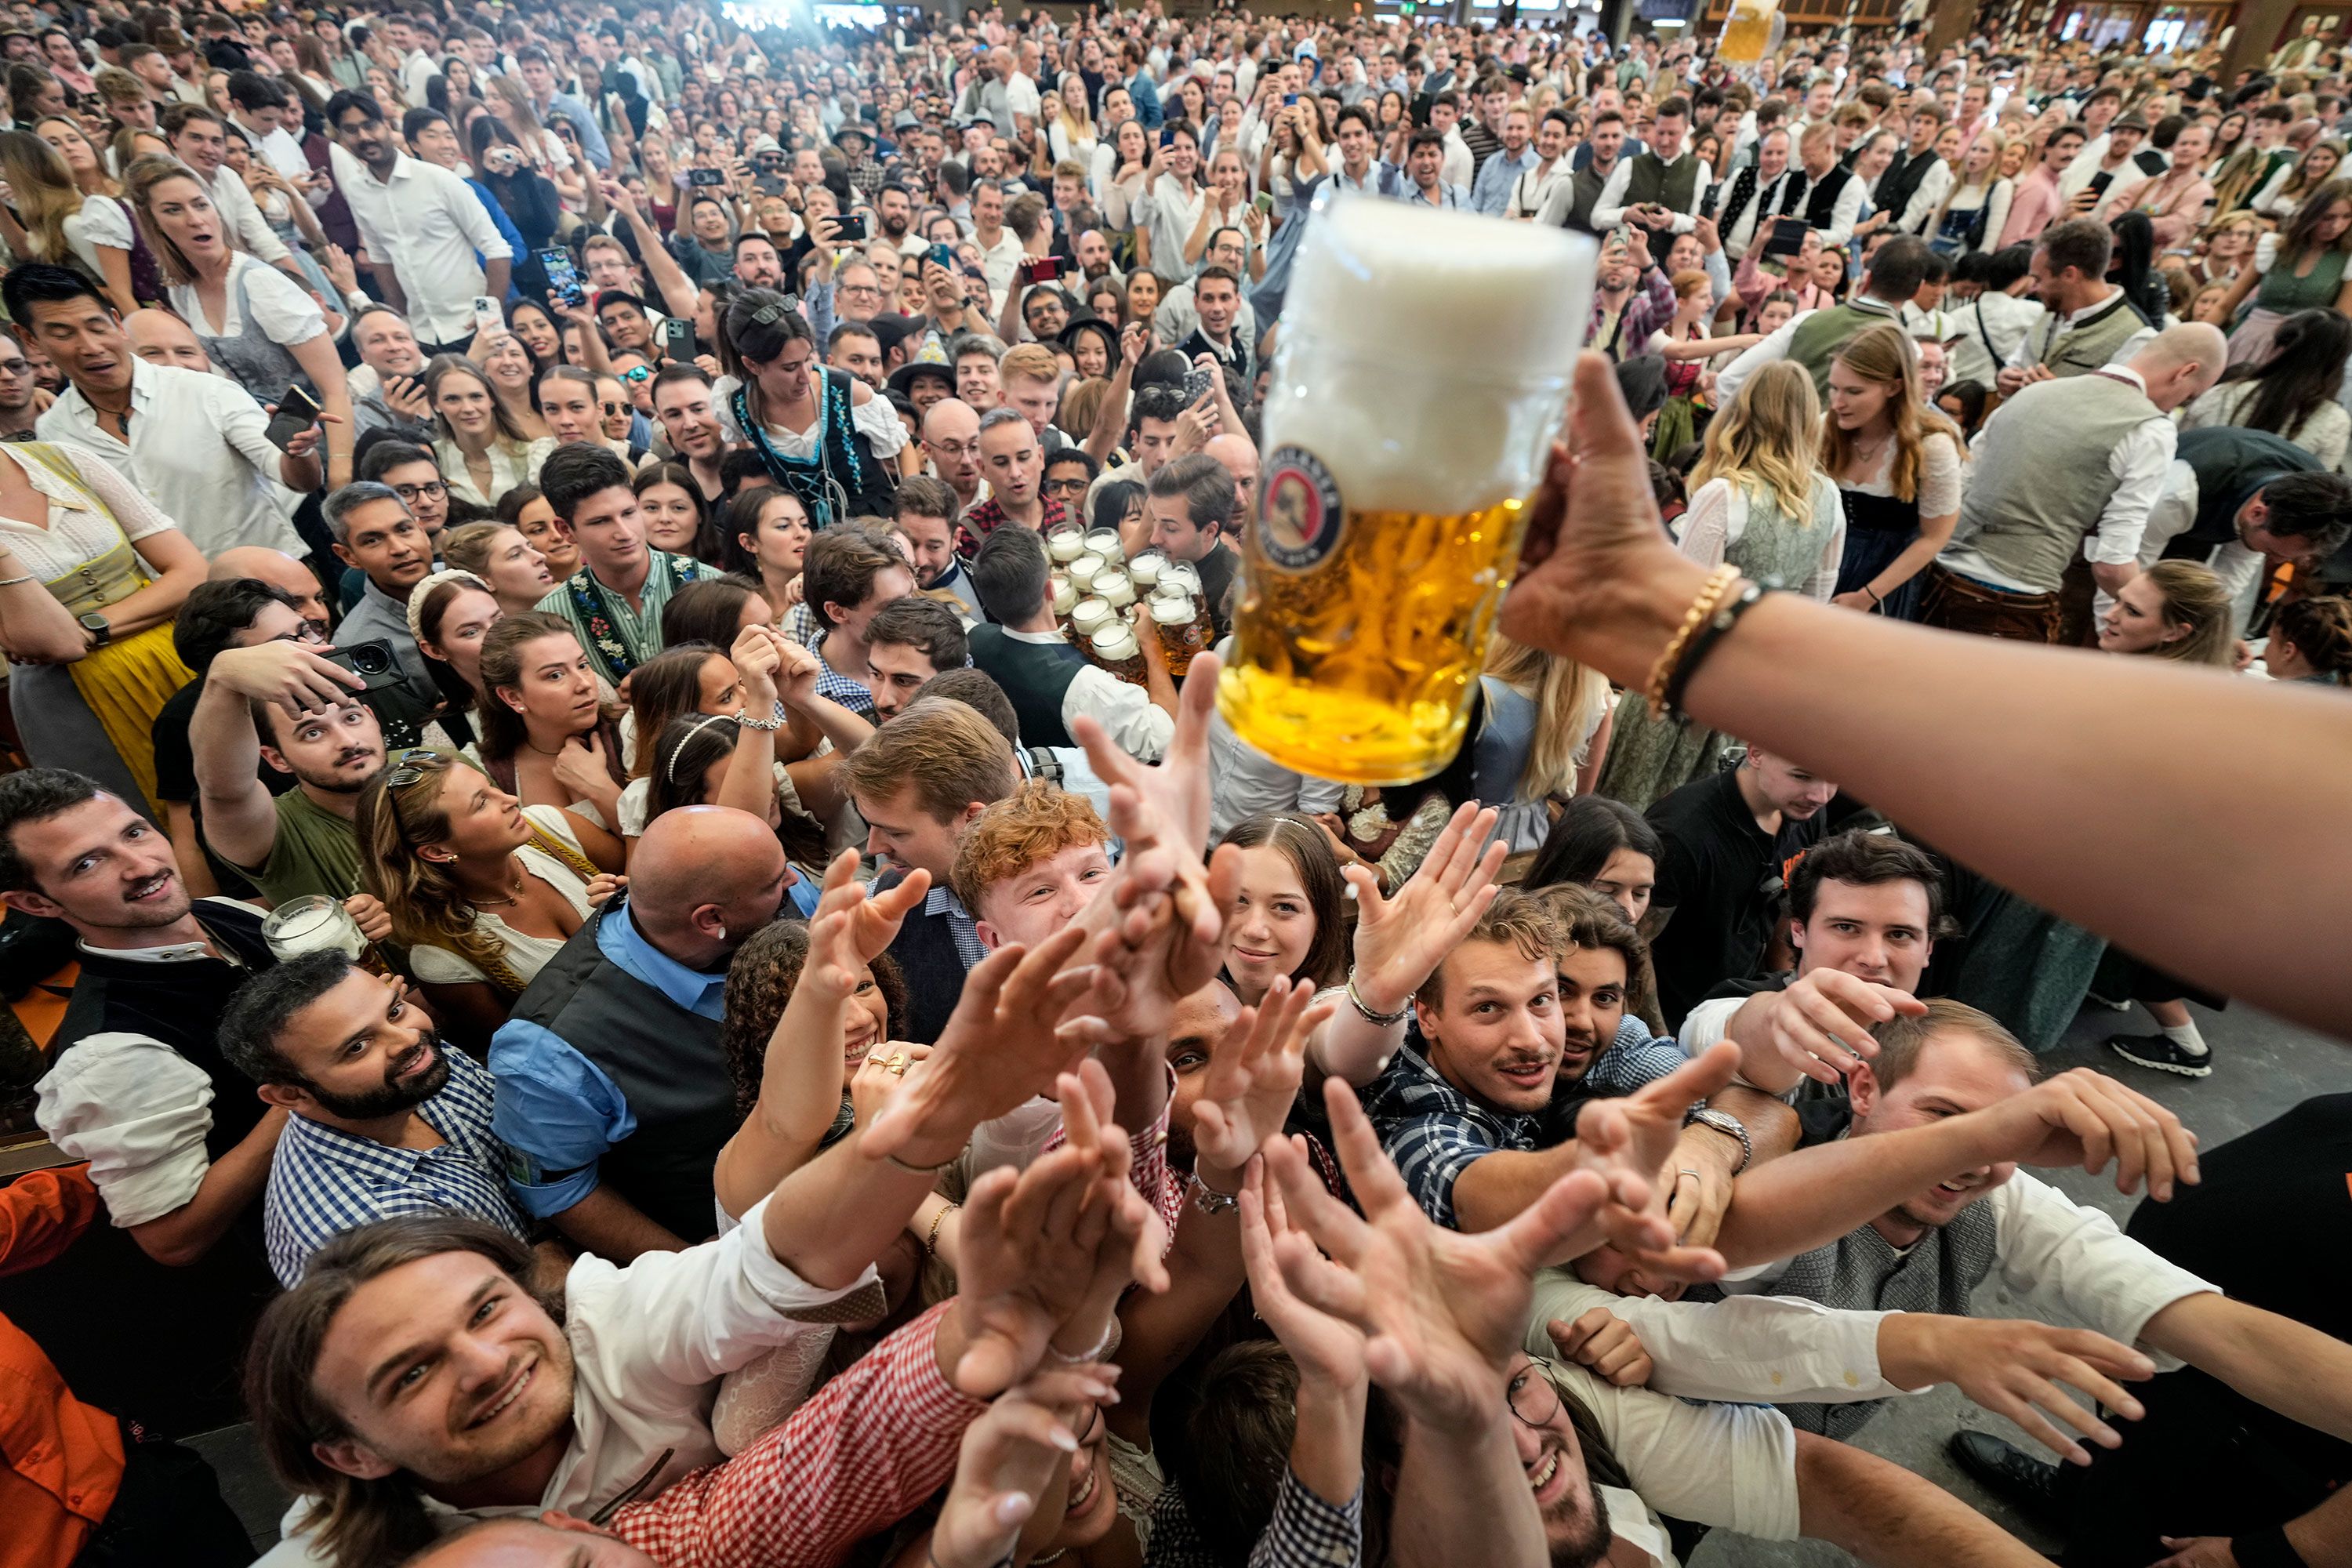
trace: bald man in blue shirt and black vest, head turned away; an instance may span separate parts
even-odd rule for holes
[[[727,961],[790,882],[774,827],[746,811],[656,816],[628,891],[492,1037],[515,1194],[576,1246],[626,1262],[713,1232],[710,1168],[741,1121],[720,1041]]]

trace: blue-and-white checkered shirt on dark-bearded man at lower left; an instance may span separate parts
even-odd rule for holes
[[[449,1081],[416,1107],[442,1135],[435,1150],[395,1150],[308,1117],[287,1119],[270,1159],[261,1229],[270,1269],[289,1291],[310,1253],[372,1220],[456,1211],[524,1234],[522,1211],[506,1190],[506,1145],[489,1131],[489,1070],[447,1041],[442,1053]]]

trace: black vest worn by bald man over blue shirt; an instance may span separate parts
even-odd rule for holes
[[[515,999],[536,1023],[604,1070],[637,1131],[597,1161],[602,1180],[687,1241],[717,1225],[710,1168],[743,1117],[715,1018],[689,1013],[597,947],[614,898],[572,933]]]

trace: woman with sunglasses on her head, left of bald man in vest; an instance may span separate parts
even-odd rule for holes
[[[581,929],[597,867],[557,806],[522,806],[454,752],[414,750],[360,792],[360,879],[433,1016],[468,1048]],[[609,882],[597,886],[607,891]]]

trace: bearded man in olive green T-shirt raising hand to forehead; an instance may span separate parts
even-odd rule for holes
[[[365,682],[299,642],[223,649],[205,672],[188,745],[205,844],[273,905],[360,886],[360,790],[383,771],[383,726]],[[270,799],[261,764],[294,776]],[[388,922],[386,922],[388,933]]]

